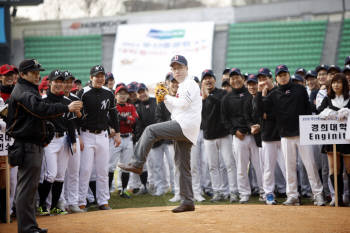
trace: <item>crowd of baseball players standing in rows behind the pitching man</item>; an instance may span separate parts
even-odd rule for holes
[[[163,102],[150,96],[145,84],[118,83],[114,75],[97,65],[84,86],[64,70],[53,70],[41,80],[38,89],[45,102],[68,105],[79,100],[83,108],[50,120],[54,136],[44,147],[37,214],[81,213],[91,205],[109,210],[112,192],[128,199],[171,192],[174,196],[169,201],[180,201],[172,141],[154,144],[141,175],[118,169],[119,163],[130,162],[144,129],[170,120],[171,114]],[[4,106],[20,71],[5,64],[0,76],[0,105]],[[304,197],[317,206],[334,206],[337,179],[339,205],[349,203],[350,145],[338,145],[339,169],[334,174],[330,145],[300,145],[299,116],[348,117],[350,56],[342,68],[322,64],[293,72],[278,65],[274,73],[260,68],[255,74],[228,68],[221,77],[206,69],[193,79],[203,100],[201,130],[191,150],[194,201],[209,198],[244,204],[258,196],[259,201],[275,205],[277,197],[285,197],[284,205],[299,205]],[[164,82],[169,95],[176,97],[179,83],[171,72]],[[5,120],[0,123],[6,132]],[[17,167],[13,167],[13,215],[16,183]],[[4,212],[3,182],[0,192]]]

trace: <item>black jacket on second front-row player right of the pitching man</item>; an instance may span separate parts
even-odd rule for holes
[[[232,135],[239,130],[243,134],[250,134],[250,127],[245,117],[246,102],[251,95],[244,86],[240,89],[232,89],[232,92],[224,96],[221,102],[221,116],[226,130]]]

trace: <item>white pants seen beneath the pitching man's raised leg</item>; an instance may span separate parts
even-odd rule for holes
[[[168,150],[168,146],[163,143],[156,148],[152,148],[151,156],[148,156],[147,171],[151,176],[150,183],[154,185],[158,193],[164,193],[169,188],[164,164],[166,150]]]

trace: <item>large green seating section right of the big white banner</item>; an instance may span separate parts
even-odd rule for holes
[[[248,73],[279,64],[290,71],[314,69],[322,59],[326,28],[327,21],[231,24],[226,67]]]

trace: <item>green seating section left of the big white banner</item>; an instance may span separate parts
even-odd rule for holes
[[[33,36],[24,38],[25,58],[36,58],[46,69],[69,70],[76,78],[89,80],[90,68],[102,63],[102,36]]]

